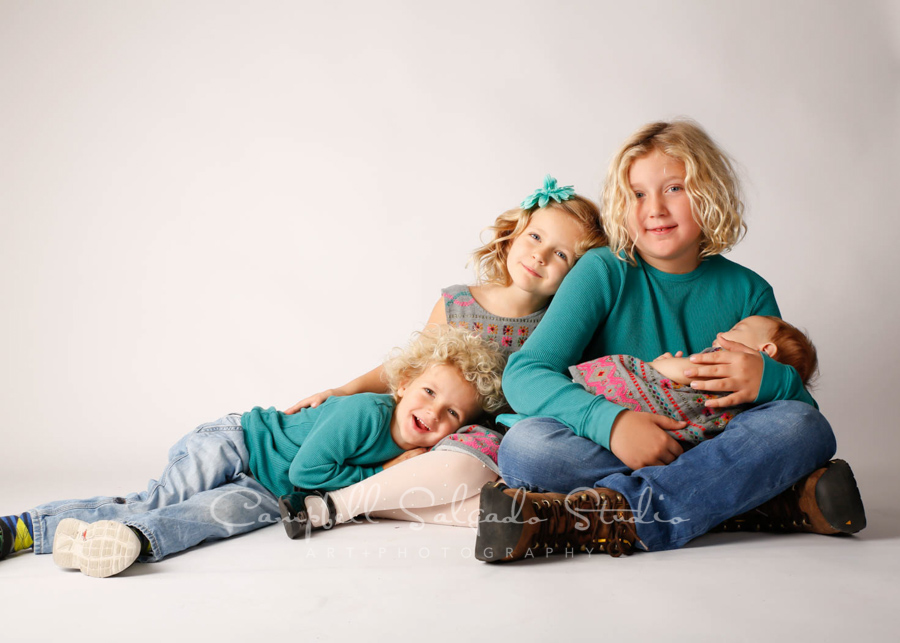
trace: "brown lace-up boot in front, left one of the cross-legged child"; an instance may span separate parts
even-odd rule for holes
[[[628,502],[611,489],[531,493],[502,482],[481,488],[475,558],[520,558],[603,552],[630,554],[639,542]]]

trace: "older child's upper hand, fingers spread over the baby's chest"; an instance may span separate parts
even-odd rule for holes
[[[691,388],[711,392],[731,391],[723,397],[707,400],[706,406],[710,408],[754,402],[762,382],[762,355],[740,342],[725,339],[721,334],[718,341],[725,350],[691,355],[691,362],[697,366],[685,370],[684,374],[690,378],[702,378],[692,381]]]

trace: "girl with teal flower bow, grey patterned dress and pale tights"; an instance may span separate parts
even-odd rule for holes
[[[558,187],[547,175],[543,187],[489,228],[490,240],[473,254],[475,285],[444,288],[427,324],[467,328],[496,342],[506,356],[519,350],[544,315],[563,277],[588,249],[606,244],[600,213],[572,186]],[[381,367],[335,389],[311,395],[287,410],[315,407],[333,395],[382,393]],[[426,422],[427,423],[427,422]],[[401,520],[474,526],[478,492],[497,479],[500,430],[463,427],[431,451],[407,451],[385,463],[385,471],[327,498],[302,496],[313,526],[330,527],[360,514]],[[410,458],[414,458],[409,460]],[[394,467],[404,460],[402,467]],[[427,493],[410,495],[415,487]],[[302,494],[301,494],[302,495]],[[409,498],[428,498],[414,502]],[[283,507],[298,503],[285,497]],[[406,498],[406,500],[404,500]],[[303,508],[299,509],[302,514]],[[295,512],[287,510],[295,524]],[[309,533],[289,530],[289,535]]]

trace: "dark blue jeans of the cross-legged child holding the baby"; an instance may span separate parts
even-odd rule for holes
[[[612,452],[552,418],[529,418],[500,443],[511,487],[570,493],[607,487],[635,512],[647,550],[676,549],[775,497],[834,455],[828,421],[803,402],[778,401],[737,415],[712,440],[666,466],[632,471]]]

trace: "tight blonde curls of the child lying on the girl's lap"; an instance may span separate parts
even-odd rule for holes
[[[401,386],[434,364],[456,367],[475,389],[478,403],[487,413],[506,404],[500,389],[506,358],[500,347],[462,328],[432,325],[414,333],[406,348],[395,348],[385,360],[384,378],[396,398]]]

